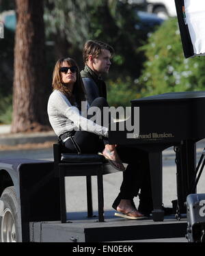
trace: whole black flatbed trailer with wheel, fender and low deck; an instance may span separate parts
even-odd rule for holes
[[[105,212],[87,218],[84,212],[69,213],[61,223],[59,179],[54,162],[33,159],[0,160],[1,242],[115,242],[184,238],[186,218],[178,221],[126,220]]]

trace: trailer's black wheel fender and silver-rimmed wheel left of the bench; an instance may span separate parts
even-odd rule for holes
[[[1,159],[1,242],[29,242],[29,222],[59,220],[53,162]]]

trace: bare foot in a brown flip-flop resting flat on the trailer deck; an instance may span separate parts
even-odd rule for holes
[[[117,207],[117,211],[131,217],[143,217],[143,214],[138,212],[137,209],[131,204],[131,200],[128,199],[121,199],[120,204]]]

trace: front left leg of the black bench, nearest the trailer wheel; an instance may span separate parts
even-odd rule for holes
[[[61,223],[66,223],[66,190],[64,171],[59,171],[59,188],[60,188],[60,207],[61,207]]]

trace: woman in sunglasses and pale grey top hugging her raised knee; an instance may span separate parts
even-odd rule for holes
[[[79,68],[74,60],[66,58],[57,61],[53,72],[53,89],[48,103],[49,120],[59,139],[64,142],[66,151],[98,153],[100,149],[102,150],[103,145],[99,136],[107,138],[108,128],[89,120],[92,116],[83,117],[88,105],[86,110],[81,110],[81,103],[85,102],[85,90]],[[100,110],[104,106],[108,106],[104,98],[96,99],[91,105]],[[105,149],[102,153],[107,156],[113,155],[114,152],[115,146],[109,145],[105,140]],[[120,159],[114,163],[116,168],[124,170]]]

